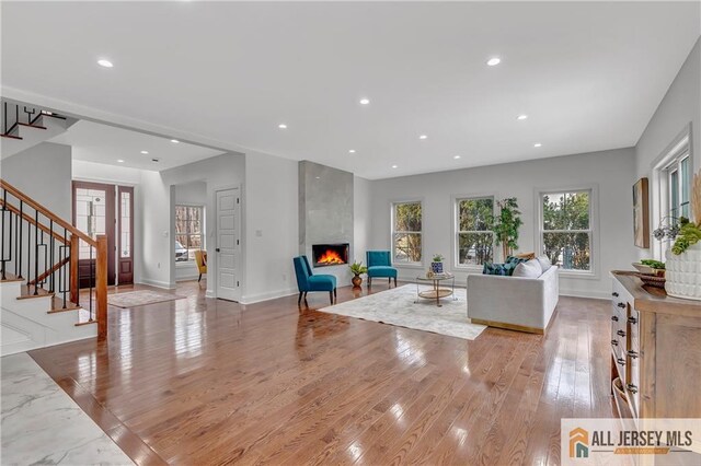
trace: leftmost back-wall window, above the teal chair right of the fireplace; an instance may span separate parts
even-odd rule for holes
[[[392,256],[398,264],[420,264],[422,259],[421,202],[392,205]]]

